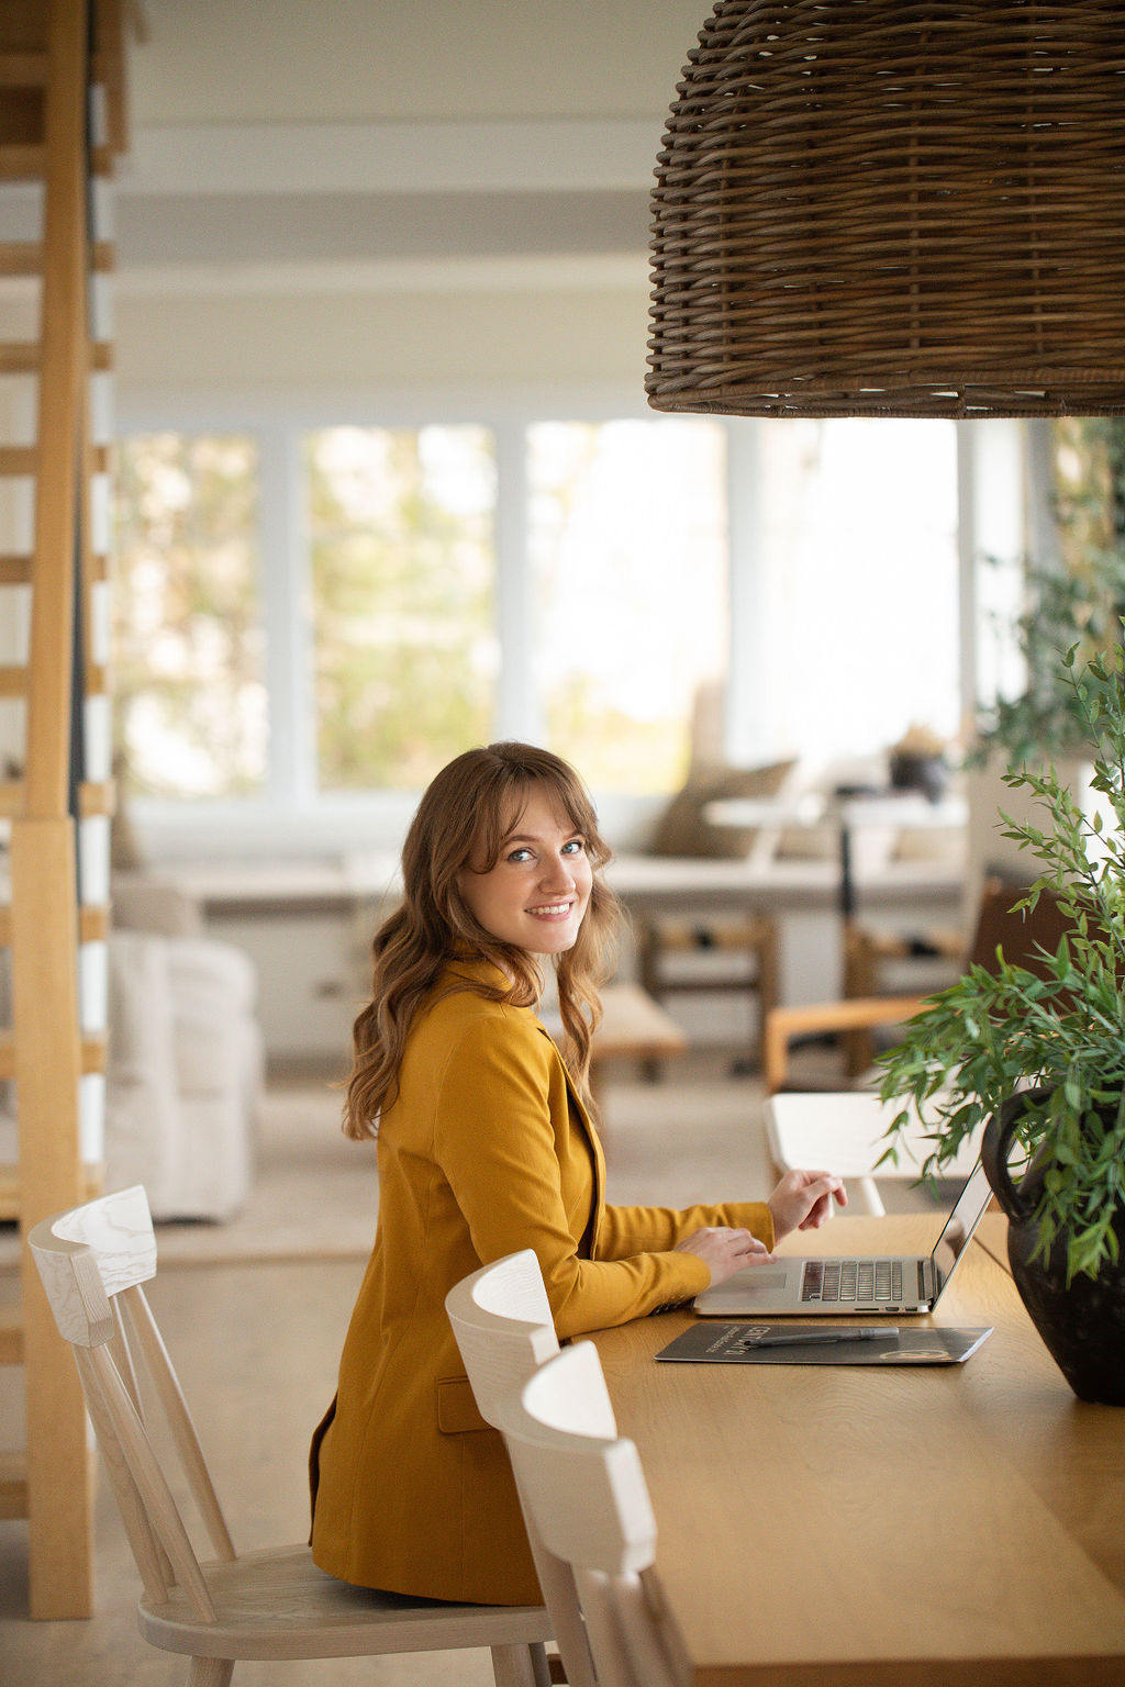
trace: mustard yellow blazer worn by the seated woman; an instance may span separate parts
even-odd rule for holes
[[[312,1555],[366,1587],[538,1604],[508,1456],[476,1410],[445,1294],[531,1247],[565,1339],[698,1294],[707,1265],[675,1243],[720,1223],[772,1245],[772,1215],[607,1206],[597,1135],[540,1021],[474,990],[435,995],[379,1125],[374,1250],[312,1446]]]

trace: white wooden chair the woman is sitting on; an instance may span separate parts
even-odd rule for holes
[[[157,1247],[140,1184],[47,1218],[29,1243],[140,1569],[140,1631],[191,1657],[189,1687],[228,1687],[238,1658],[353,1658],[489,1647],[498,1687],[545,1687],[543,1608],[439,1604],[353,1587],[307,1545],[236,1554],[175,1372],[142,1289]],[[143,1387],[147,1373],[150,1387]],[[157,1426],[157,1417],[164,1419]],[[202,1517],[201,1564],[150,1439],[170,1441]],[[165,1434],[167,1431],[167,1434]]]

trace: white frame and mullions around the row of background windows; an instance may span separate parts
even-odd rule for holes
[[[525,434],[535,422],[658,420],[634,386],[552,390],[162,393],[118,396],[120,435],[142,432],[248,434],[260,452],[261,604],[266,621],[270,746],[258,796],[174,803],[137,798],[130,817],[153,859],[347,855],[396,849],[417,806],[412,791],[320,791],[315,774],[312,649],[305,617],[302,435],[336,425],[422,427],[476,423],[496,439],[496,590],[499,683],[494,732],[513,737],[535,719],[531,671],[533,579],[526,565]],[[762,550],[757,540],[761,466],[757,418],[708,417],[727,432],[729,629],[724,754],[771,759]],[[958,533],[961,707],[977,692],[975,558],[997,526],[1024,528],[1025,423],[958,422]],[[999,471],[993,461],[1000,452]],[[988,472],[985,472],[988,471]],[[619,849],[646,833],[663,796],[595,791],[604,828]]]

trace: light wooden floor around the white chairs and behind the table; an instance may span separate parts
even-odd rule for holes
[[[688,1061],[658,1086],[622,1071],[607,1090],[609,1194],[683,1205],[766,1191],[761,1091],[725,1063]],[[307,1188],[315,1201],[317,1189]],[[305,1449],[332,1395],[361,1259],[172,1265],[152,1302],[196,1412],[240,1547],[302,1540]],[[0,1522],[0,1682],[164,1687],[186,1662],[135,1631],[137,1577],[106,1485],[98,1501],[98,1613],[30,1623],[25,1525]],[[236,1687],[487,1687],[486,1652],[322,1663],[240,1663]]]

